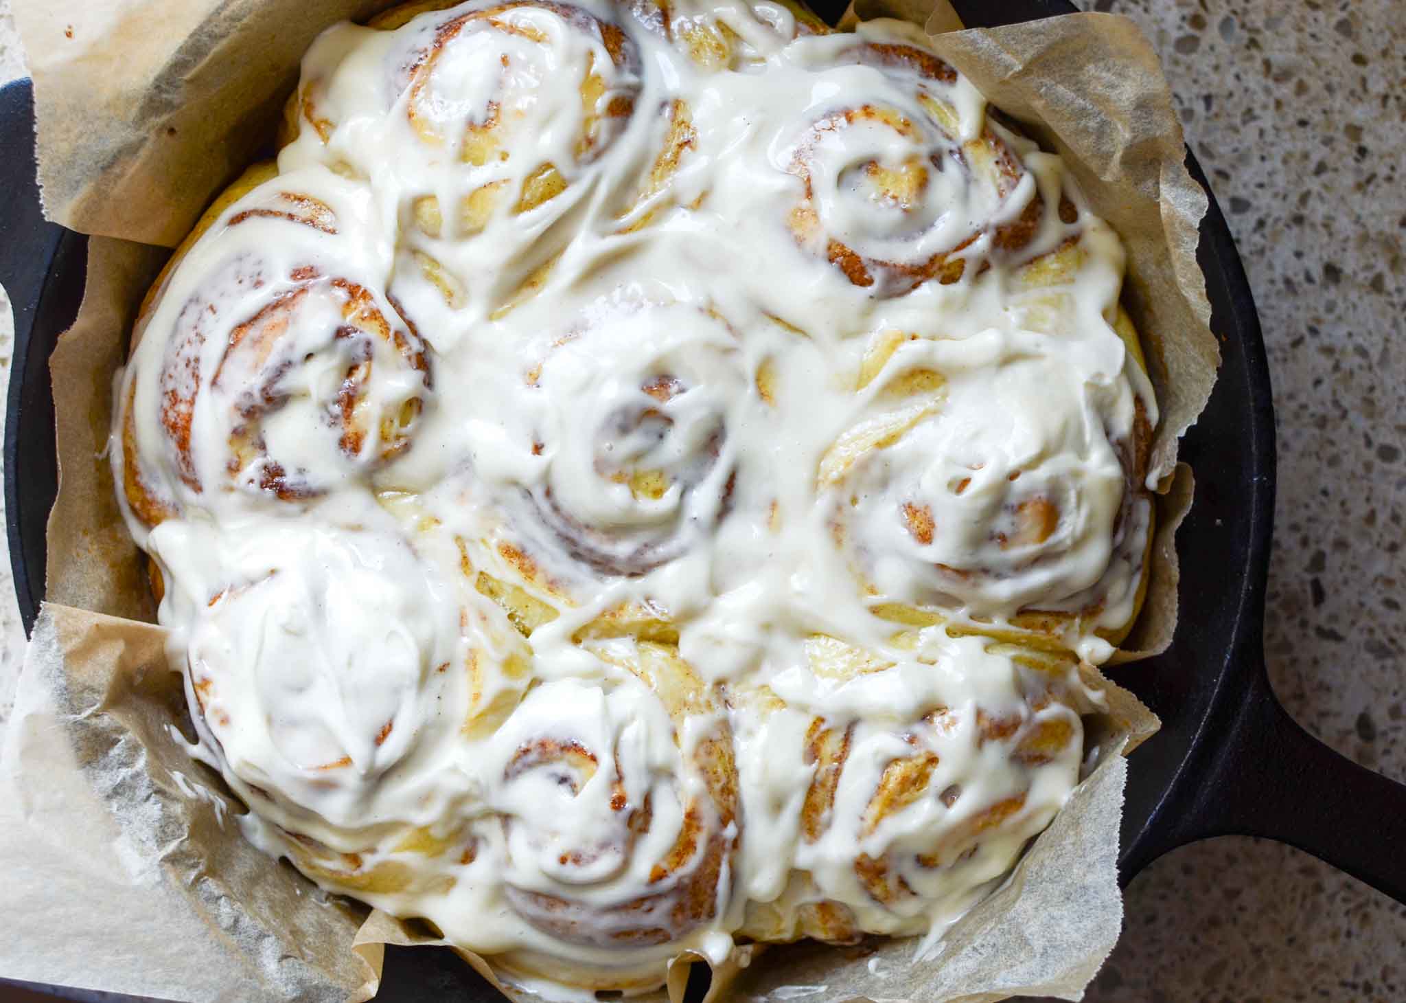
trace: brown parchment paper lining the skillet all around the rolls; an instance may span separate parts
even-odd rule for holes
[[[894,7],[891,3],[901,3]],[[93,239],[89,284],[51,360],[60,491],[48,598],[0,750],[0,975],[166,999],[361,1000],[382,944],[436,943],[322,895],[239,834],[243,809],[188,758],[180,681],[166,668],[139,554],[103,456],[115,367],[165,252],[271,136],[298,58],[375,0],[13,0],[35,77],[46,214]],[[862,3],[929,31],[945,0]],[[942,34],[938,51],[1064,153],[1129,250],[1126,305],[1163,407],[1152,589],[1125,646],[1166,647],[1175,623],[1173,533],[1191,498],[1175,440],[1199,412],[1218,353],[1195,264],[1205,196],[1156,56],[1132,23],[1074,15]],[[1136,671],[1136,668],[1123,670]],[[1118,937],[1123,754],[1156,730],[1136,698],[1090,671],[1109,712],[1088,722],[1090,771],[1011,879],[915,959],[914,941],[745,952],[711,997],[780,1000],[1077,999]],[[184,722],[184,723],[183,723]],[[1133,761],[1132,768],[1136,768]],[[470,964],[492,978],[479,958]],[[741,962],[748,962],[745,966]],[[735,976],[735,980],[734,980]],[[671,972],[678,1000],[686,964]],[[520,993],[510,993],[522,997]],[[665,993],[655,995],[662,999]]]

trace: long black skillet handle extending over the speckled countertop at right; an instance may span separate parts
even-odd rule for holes
[[[1289,717],[1264,668],[1175,845],[1212,836],[1288,843],[1406,903],[1406,785],[1348,760]]]

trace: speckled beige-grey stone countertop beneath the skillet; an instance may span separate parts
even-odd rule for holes
[[[1323,741],[1406,781],[1406,7],[1078,1],[1130,15],[1161,52],[1260,307],[1279,446],[1274,688]],[[0,0],[0,82],[21,72]],[[0,294],[4,380],[11,343]],[[0,726],[22,644],[6,557]],[[1406,999],[1406,907],[1275,843],[1185,847],[1128,889],[1087,999]]]

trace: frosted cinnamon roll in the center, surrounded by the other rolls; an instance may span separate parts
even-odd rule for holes
[[[725,513],[728,411],[747,377],[716,311],[610,307],[555,339],[526,380],[541,473],[510,488],[506,532],[550,577],[645,574]]]

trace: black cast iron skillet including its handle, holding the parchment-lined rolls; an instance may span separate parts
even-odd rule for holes
[[[811,4],[834,20],[844,0]],[[1067,0],[957,0],[970,27],[1073,13]],[[83,294],[87,238],[45,222],[34,177],[27,80],[0,90],[0,284],[15,343],[4,435],[10,560],[25,630],[44,599],[44,530],[58,471],[48,357]],[[1195,158],[1192,176],[1211,193]],[[1220,208],[1201,225],[1201,267],[1220,377],[1181,457],[1197,477],[1181,526],[1181,615],[1171,649],[1114,670],[1161,717],[1128,779],[1123,883],[1194,840],[1264,836],[1306,850],[1406,903],[1406,786],[1339,755],[1279,706],[1264,670],[1263,618],[1274,520],[1274,409],[1254,300]],[[1350,667],[1346,671],[1351,671]],[[492,999],[447,951],[391,950],[395,1000]]]

